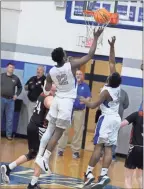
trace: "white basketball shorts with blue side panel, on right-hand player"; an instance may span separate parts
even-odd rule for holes
[[[95,129],[94,145],[117,145],[121,118],[119,115],[101,115]]]

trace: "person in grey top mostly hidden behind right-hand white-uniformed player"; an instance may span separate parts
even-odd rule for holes
[[[128,106],[129,106],[128,94],[126,93],[126,91],[121,89],[120,105],[119,105],[119,115],[121,119],[123,118],[124,110],[127,109]],[[116,146],[115,145],[113,145],[112,147],[112,155],[113,155],[112,160],[115,161],[116,160]]]

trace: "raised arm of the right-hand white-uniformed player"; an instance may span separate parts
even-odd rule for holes
[[[116,37],[112,37],[112,40],[108,40],[108,43],[110,45],[110,55],[109,55],[109,68],[110,68],[110,75],[116,72],[115,68],[115,44]]]

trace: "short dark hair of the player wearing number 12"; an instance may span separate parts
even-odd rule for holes
[[[52,60],[54,62],[62,63],[63,58],[65,56],[63,48],[58,47],[58,48],[54,49],[51,53],[51,56],[52,56]]]

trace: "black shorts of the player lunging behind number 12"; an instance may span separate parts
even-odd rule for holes
[[[46,129],[38,127],[37,124],[30,121],[27,127],[28,148],[29,150],[38,151],[40,145],[40,139],[45,133]]]

